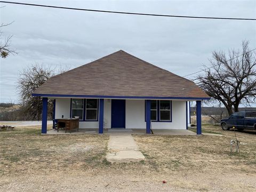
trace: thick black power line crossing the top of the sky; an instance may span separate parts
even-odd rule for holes
[[[62,7],[62,6],[51,6],[51,5],[40,5],[40,4],[30,4],[30,3],[18,3],[18,2],[6,2],[6,1],[0,1],[0,3],[50,7],[50,8],[77,10],[77,11],[93,11],[93,12],[103,12],[103,13],[146,15],[146,16],[156,16],[156,17],[176,17],[176,18],[193,18],[193,19],[256,20],[256,19],[252,19],[252,18],[195,17],[195,16],[185,16],[185,15],[166,15],[166,14],[149,14],[149,13],[133,13],[133,12],[121,12],[121,11],[91,10],[91,9],[79,9],[79,8],[73,8],[73,7]]]

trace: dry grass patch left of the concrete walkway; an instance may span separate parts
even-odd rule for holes
[[[0,133],[0,174],[87,170],[105,161],[107,135],[41,135],[40,132],[31,127],[17,127],[15,131]]]

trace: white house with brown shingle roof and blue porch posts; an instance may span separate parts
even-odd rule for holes
[[[187,129],[189,101],[210,99],[194,82],[122,50],[48,79],[34,91],[43,98],[42,133],[47,100],[54,99],[55,118],[79,117],[79,128]]]

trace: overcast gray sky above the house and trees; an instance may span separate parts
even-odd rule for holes
[[[13,0],[14,1],[14,0]],[[256,18],[256,1],[15,1],[124,12]],[[1,4],[4,34],[19,54],[1,59],[0,102],[18,102],[18,74],[39,63],[69,69],[124,50],[184,76],[213,50],[256,48],[256,21],[163,18]],[[193,77],[193,76],[190,76]]]

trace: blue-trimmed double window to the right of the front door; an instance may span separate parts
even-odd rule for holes
[[[145,105],[145,121],[146,121]],[[172,101],[170,100],[151,100],[150,107],[151,121],[153,122],[171,122],[172,121]]]

